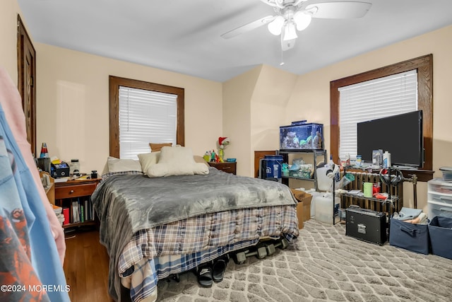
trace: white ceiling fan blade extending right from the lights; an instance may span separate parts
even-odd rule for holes
[[[367,2],[343,1],[309,4],[304,9],[309,11],[317,8],[312,18],[347,19],[363,17],[371,6],[372,4]]]

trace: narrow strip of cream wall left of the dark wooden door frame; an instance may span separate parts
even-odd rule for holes
[[[16,0],[2,0],[0,9],[0,66],[8,71],[17,85],[17,14],[21,15]]]

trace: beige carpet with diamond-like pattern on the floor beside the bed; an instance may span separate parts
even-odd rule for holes
[[[180,279],[160,281],[158,301],[452,301],[452,260],[365,243],[313,219],[286,250],[230,260],[211,288],[192,272]]]

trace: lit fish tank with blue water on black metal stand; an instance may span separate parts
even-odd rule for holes
[[[280,126],[280,151],[323,150],[323,124],[292,122]]]

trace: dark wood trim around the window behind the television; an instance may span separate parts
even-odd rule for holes
[[[419,109],[423,113],[423,134],[424,134],[424,166],[416,171],[420,181],[427,181],[433,178],[433,54],[410,59],[404,62],[381,67],[371,71],[347,76],[330,82],[330,149],[335,162],[339,161],[339,90],[343,86],[378,79],[391,74],[417,70],[417,98]],[[404,175],[405,175],[405,171]],[[413,173],[407,170],[406,173]],[[406,175],[405,175],[406,176]]]

